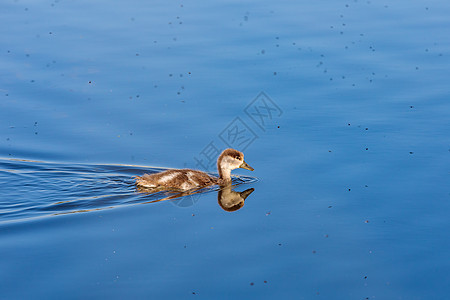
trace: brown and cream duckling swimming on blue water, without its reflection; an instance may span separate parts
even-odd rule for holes
[[[242,168],[253,171],[244,161],[244,154],[235,149],[225,149],[217,159],[219,177],[191,169],[167,170],[156,174],[137,176],[136,185],[145,188],[190,190],[213,184],[224,186],[231,183],[231,170]]]

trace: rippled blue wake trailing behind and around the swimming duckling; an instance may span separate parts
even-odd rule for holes
[[[137,191],[134,176],[162,168],[130,165],[64,164],[0,159],[0,222],[39,216],[89,212],[123,205],[176,203],[193,195],[217,191],[217,186],[186,193]],[[255,182],[234,176],[233,185]]]

